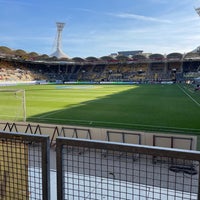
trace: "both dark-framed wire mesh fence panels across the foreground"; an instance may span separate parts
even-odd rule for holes
[[[118,132],[124,143],[111,142],[110,132],[105,142],[65,131],[73,137],[57,137],[56,152],[49,136],[0,132],[0,199],[56,200],[57,187],[57,200],[200,200],[200,152],[127,144]]]

